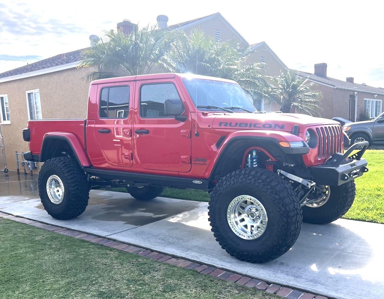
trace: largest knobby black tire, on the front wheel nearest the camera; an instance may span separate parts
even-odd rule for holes
[[[260,236],[248,236],[254,239],[246,240],[231,229],[227,215],[232,215],[231,206],[236,198],[241,201],[251,197],[255,206],[260,207],[256,208],[258,215],[264,208],[267,221]],[[237,170],[221,178],[211,194],[208,209],[216,240],[227,253],[242,261],[263,263],[278,258],[292,247],[301,230],[298,197],[282,178],[262,168]]]

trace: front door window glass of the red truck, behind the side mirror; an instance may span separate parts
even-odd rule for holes
[[[140,91],[141,117],[166,117],[164,114],[164,101],[166,99],[180,99],[172,83],[146,84]]]

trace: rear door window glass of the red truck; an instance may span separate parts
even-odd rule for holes
[[[101,118],[127,118],[128,111],[129,86],[114,86],[101,89]]]

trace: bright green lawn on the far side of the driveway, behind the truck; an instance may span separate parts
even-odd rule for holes
[[[356,179],[356,198],[343,218],[384,223],[384,150],[366,150],[369,172]],[[127,192],[125,188],[111,191]],[[166,188],[163,197],[208,202],[209,194],[201,190]]]

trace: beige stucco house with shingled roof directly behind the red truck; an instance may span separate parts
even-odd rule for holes
[[[168,17],[164,15],[157,17],[157,21],[161,28],[181,28],[187,34],[193,28],[202,28],[218,41],[249,45],[220,13],[172,26],[167,26]],[[118,23],[118,29],[127,32],[134,26],[128,20]],[[83,78],[97,69],[76,68],[83,50],[59,54],[0,74],[1,129],[9,170],[16,170],[15,151],[28,150],[28,143],[22,138],[28,120],[86,118],[89,83]],[[265,63],[265,74],[275,76],[286,68],[265,42],[252,45],[252,50],[247,63]],[[268,110],[262,100],[257,106],[259,110]]]

